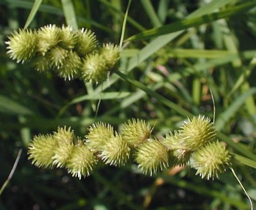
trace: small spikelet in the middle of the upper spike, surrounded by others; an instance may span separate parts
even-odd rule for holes
[[[63,66],[64,61],[66,60],[68,56],[68,51],[61,47],[53,47],[49,51],[49,58],[51,61],[51,66],[53,66],[56,69],[59,69]]]

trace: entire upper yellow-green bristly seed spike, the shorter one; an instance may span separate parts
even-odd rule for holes
[[[39,30],[18,30],[9,37],[7,54],[16,62],[32,62],[39,72],[54,70],[64,79],[79,78],[101,83],[119,59],[112,43],[98,47],[91,30],[49,24]]]

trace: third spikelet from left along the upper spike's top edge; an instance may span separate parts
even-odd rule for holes
[[[74,49],[75,43],[77,43],[78,35],[70,26],[62,26],[60,29],[60,47],[71,50]]]

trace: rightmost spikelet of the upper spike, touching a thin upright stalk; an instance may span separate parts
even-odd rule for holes
[[[112,43],[104,43],[102,49],[100,49],[100,54],[102,54],[108,70],[112,70],[119,60],[118,46]]]

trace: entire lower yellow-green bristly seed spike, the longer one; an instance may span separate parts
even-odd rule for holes
[[[216,138],[210,119],[188,119],[181,129],[158,140],[144,120],[131,119],[117,133],[110,124],[91,125],[83,140],[70,128],[58,128],[53,135],[38,135],[28,148],[29,159],[37,167],[65,167],[75,177],[89,176],[96,163],[122,166],[135,161],[142,173],[153,175],[167,167],[187,165],[202,178],[218,178],[230,167],[228,150]],[[75,143],[76,142],[76,143]]]

